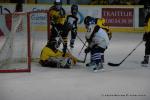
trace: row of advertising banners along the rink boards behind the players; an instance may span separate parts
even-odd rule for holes
[[[24,4],[23,12],[48,10],[52,5],[47,4]],[[71,13],[71,5],[63,5],[66,15]],[[0,3],[0,14],[10,14],[15,11],[15,4]],[[144,13],[143,6],[99,6],[99,5],[79,5],[78,29],[85,30],[84,18],[91,16],[94,18],[105,18],[106,25],[113,28],[140,28],[143,27]],[[38,31],[46,30],[47,16],[43,14],[33,14],[31,16],[32,26]],[[47,30],[46,30],[47,31]],[[1,32],[0,32],[1,33]],[[2,34],[2,33],[1,33]]]

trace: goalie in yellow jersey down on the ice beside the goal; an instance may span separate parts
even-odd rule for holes
[[[46,46],[42,49],[39,63],[43,67],[53,68],[71,68],[72,65],[77,63],[77,58],[72,56],[71,53],[65,53],[57,49],[55,42],[47,42]]]

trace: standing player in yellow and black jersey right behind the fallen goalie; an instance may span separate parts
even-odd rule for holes
[[[51,19],[51,36],[49,37],[49,41],[55,42],[57,47],[61,43],[63,43],[63,56],[65,56],[67,50],[67,36],[68,33],[66,32],[66,25],[64,25],[66,21],[66,14],[65,10],[62,8],[62,1],[56,0],[54,2],[54,6],[52,6],[49,10],[50,19]]]

